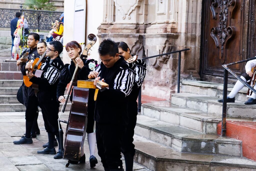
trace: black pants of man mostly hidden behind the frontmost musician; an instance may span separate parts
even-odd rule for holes
[[[137,115],[138,115],[138,104],[136,101],[130,101],[128,103],[128,114],[129,122],[123,134],[123,140],[121,144],[121,150],[124,155],[130,153],[131,156],[135,154],[135,145],[133,144],[134,128],[136,126]]]

